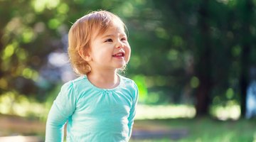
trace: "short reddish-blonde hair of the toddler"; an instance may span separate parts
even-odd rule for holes
[[[86,75],[90,72],[90,65],[81,57],[80,51],[89,52],[92,38],[105,33],[116,22],[127,30],[122,20],[109,11],[92,11],[75,21],[68,32],[68,55],[75,73]]]

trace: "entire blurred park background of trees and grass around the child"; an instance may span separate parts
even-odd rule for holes
[[[97,9],[129,30],[123,75],[140,95],[132,141],[256,141],[246,109],[256,80],[255,0],[0,0],[0,136],[43,141],[60,86],[75,78],[68,30]]]

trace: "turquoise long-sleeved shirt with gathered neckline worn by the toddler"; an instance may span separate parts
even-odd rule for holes
[[[46,142],[63,141],[67,122],[67,141],[129,141],[138,101],[134,81],[119,75],[119,85],[100,89],[87,76],[63,84],[53,102],[46,123]]]

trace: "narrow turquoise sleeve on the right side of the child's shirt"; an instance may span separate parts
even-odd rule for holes
[[[139,91],[138,91],[137,85],[134,83],[133,102],[132,102],[132,107],[129,111],[129,117],[128,117],[129,138],[132,135],[132,126],[134,124],[134,117],[135,117],[135,114],[136,114],[138,99],[139,99]]]

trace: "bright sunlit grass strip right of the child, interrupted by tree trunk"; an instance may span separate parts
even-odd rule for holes
[[[238,120],[240,118],[240,106],[229,104],[225,107],[216,105],[211,107],[211,115],[220,120]],[[177,119],[193,118],[196,116],[196,108],[191,105],[146,105],[139,104],[135,119]]]

